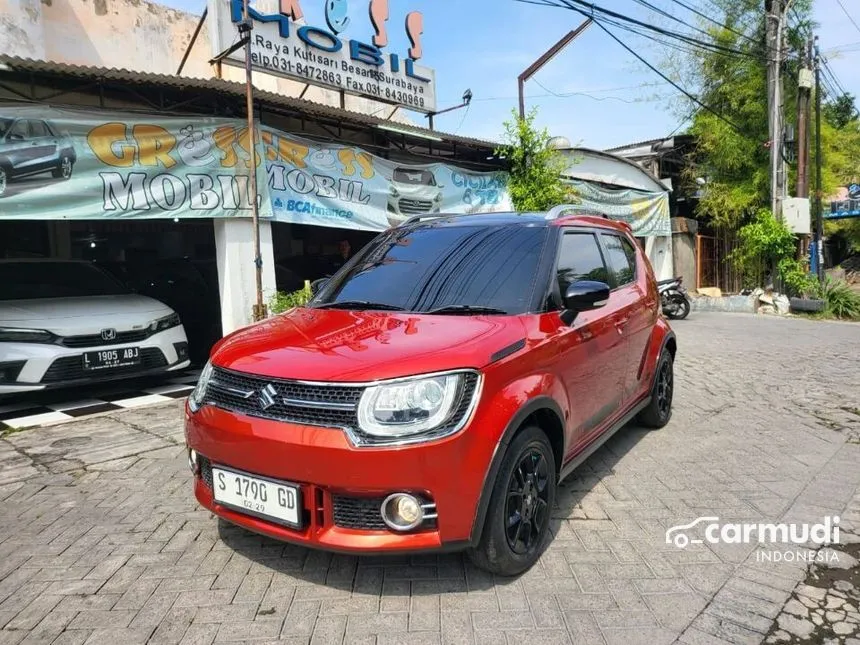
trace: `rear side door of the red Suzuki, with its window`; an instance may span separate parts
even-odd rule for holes
[[[619,330],[626,340],[626,358],[619,370],[622,403],[626,407],[639,389],[639,367],[654,324],[653,306],[647,304],[643,290],[644,267],[633,244],[622,233],[602,232],[600,242],[611,272],[612,299]]]

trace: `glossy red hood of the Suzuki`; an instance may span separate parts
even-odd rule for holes
[[[225,338],[216,366],[273,378],[362,382],[481,368],[525,338],[517,316],[293,309]]]

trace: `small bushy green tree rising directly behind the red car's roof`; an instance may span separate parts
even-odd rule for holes
[[[576,199],[573,188],[562,179],[569,161],[550,147],[549,132],[535,127],[536,116],[535,109],[524,119],[514,111],[504,123],[504,143],[496,150],[507,159],[508,191],[518,211],[544,211]]]

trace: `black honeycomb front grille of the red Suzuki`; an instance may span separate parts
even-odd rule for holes
[[[271,386],[272,405],[263,407],[264,389]],[[354,427],[363,387],[309,385],[240,374],[215,368],[206,402],[253,417],[304,425]]]

